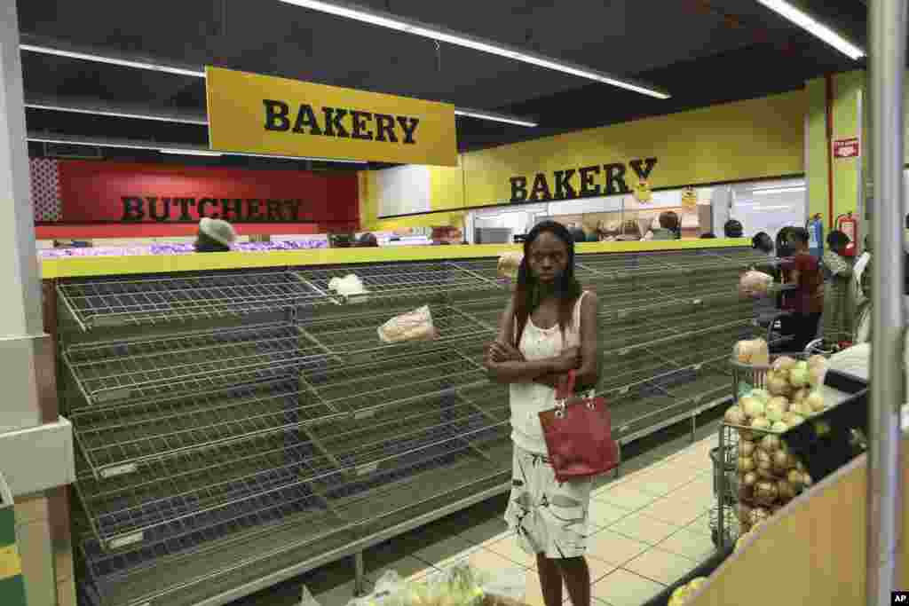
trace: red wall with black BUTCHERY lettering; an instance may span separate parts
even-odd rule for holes
[[[246,234],[359,224],[355,173],[73,160],[58,164],[58,176],[61,220],[38,224],[41,239],[192,235],[201,216]]]

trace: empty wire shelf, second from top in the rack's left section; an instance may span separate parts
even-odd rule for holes
[[[325,362],[285,324],[73,345],[64,360],[86,403],[162,398],[286,378]]]

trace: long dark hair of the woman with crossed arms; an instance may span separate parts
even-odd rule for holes
[[[524,259],[517,269],[517,286],[514,289],[514,346],[518,346],[527,319],[540,304],[539,284],[536,282],[527,260],[530,258],[530,248],[543,233],[552,233],[561,240],[568,250],[568,260],[565,270],[555,280],[555,296],[559,299],[559,328],[562,333],[571,323],[574,311],[574,301],[581,296],[581,284],[574,278],[574,240],[571,233],[563,224],[554,221],[544,221],[534,226],[524,240]]]

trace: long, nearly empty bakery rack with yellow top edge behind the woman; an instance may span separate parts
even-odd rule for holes
[[[694,430],[757,330],[735,291],[749,249],[659,245],[577,258],[622,443]],[[217,606],[350,556],[362,584],[369,547],[507,491],[507,389],[482,354],[508,289],[502,247],[475,248],[48,265],[86,602]],[[333,290],[350,273],[365,293]],[[425,305],[435,340],[379,339]]]

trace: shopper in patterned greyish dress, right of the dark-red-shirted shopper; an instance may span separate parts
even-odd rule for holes
[[[853,264],[845,256],[849,236],[838,230],[827,234],[824,251],[824,349],[848,346],[853,339],[858,284],[853,279]]]

